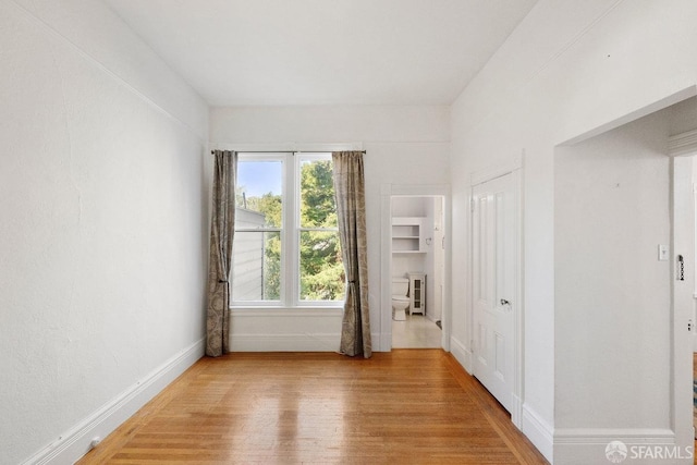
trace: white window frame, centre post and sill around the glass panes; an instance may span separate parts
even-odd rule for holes
[[[282,168],[282,213],[280,228],[237,229],[237,232],[276,232],[280,231],[281,237],[281,286],[278,301],[235,301],[234,293],[231,296],[230,307],[244,308],[343,308],[341,301],[302,301],[301,299],[301,234],[303,231],[337,231],[327,228],[302,228],[301,225],[301,169],[302,162],[329,160],[331,151],[239,151],[237,161],[281,161]],[[234,241],[234,240],[233,240]],[[231,277],[234,279],[234,277]],[[346,283],[344,282],[344,286]]]

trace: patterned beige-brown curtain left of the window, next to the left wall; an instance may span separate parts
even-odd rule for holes
[[[230,352],[230,267],[235,230],[235,179],[237,154],[215,150],[213,201],[208,260],[208,310],[206,355]]]

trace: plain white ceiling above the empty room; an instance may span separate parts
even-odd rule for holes
[[[211,106],[449,105],[537,0],[103,0]]]

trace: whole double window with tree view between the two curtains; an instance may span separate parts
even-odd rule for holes
[[[240,152],[235,306],[337,306],[345,277],[331,154]]]

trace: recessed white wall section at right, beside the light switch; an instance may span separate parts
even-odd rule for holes
[[[557,428],[671,428],[669,117],[558,149]]]

